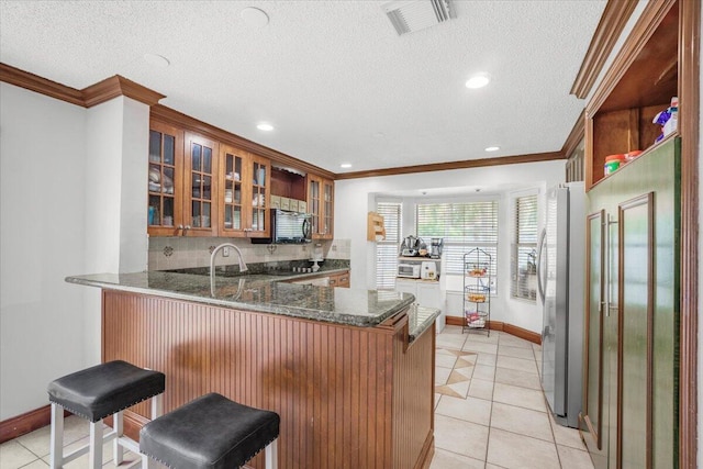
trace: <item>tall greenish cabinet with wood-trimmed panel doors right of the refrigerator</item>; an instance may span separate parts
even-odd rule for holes
[[[589,193],[581,433],[596,469],[678,467],[680,138]]]

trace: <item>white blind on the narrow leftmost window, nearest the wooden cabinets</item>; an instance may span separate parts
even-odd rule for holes
[[[379,202],[376,208],[376,212],[383,216],[386,226],[386,239],[376,243],[376,288],[378,290],[395,288],[401,208],[402,204],[390,202]]]

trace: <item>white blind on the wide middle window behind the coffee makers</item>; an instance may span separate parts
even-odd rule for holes
[[[415,211],[417,236],[429,244],[444,239],[446,273],[464,272],[464,255],[480,247],[491,255],[491,276],[498,266],[498,200],[460,203],[419,203]],[[495,293],[495,286],[492,286]]]

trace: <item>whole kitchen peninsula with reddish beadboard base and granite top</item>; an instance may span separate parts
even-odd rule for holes
[[[279,467],[426,468],[438,311],[413,297],[147,271],[68,277],[102,289],[102,360],[166,373],[164,410],[210,391],[281,416]],[[132,436],[147,404],[125,412]],[[249,465],[261,468],[263,455]]]

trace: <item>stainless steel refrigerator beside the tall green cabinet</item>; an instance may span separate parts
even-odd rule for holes
[[[549,189],[546,213],[537,255],[537,286],[544,305],[542,387],[555,421],[576,428],[583,381],[583,182]]]

